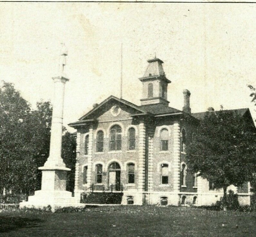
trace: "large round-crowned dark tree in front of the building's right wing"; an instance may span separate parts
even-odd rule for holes
[[[226,190],[252,180],[255,172],[255,127],[239,113],[209,111],[187,146],[189,168],[200,172],[214,188]]]

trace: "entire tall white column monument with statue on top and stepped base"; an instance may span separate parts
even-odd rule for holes
[[[27,202],[21,202],[20,207],[47,207],[51,206],[52,211],[56,207],[67,207],[75,205],[75,198],[71,192],[66,191],[67,172],[61,158],[62,148],[62,121],[65,83],[69,81],[64,73],[66,65],[66,56],[68,55],[65,45],[62,45],[59,63],[59,75],[53,77],[54,82],[54,100],[52,107],[52,127],[50,155],[44,166],[39,167],[42,170],[41,190],[35,191],[34,196],[29,196]]]

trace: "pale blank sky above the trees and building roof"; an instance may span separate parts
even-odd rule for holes
[[[164,61],[169,106],[192,113],[250,108],[256,86],[256,5],[202,3],[0,3],[0,80],[35,108],[52,100],[61,43],[68,49],[63,124],[120,95],[140,105],[147,60]],[[72,129],[69,129],[73,131]]]

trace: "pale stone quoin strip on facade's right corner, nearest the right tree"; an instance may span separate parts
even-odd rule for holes
[[[173,124],[173,191],[174,205],[178,206],[180,192],[180,124]]]

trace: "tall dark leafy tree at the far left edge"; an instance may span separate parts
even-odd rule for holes
[[[0,87],[0,190],[20,185],[20,168],[24,168],[26,146],[23,121],[31,109],[12,83],[2,82]],[[30,161],[29,161],[30,162]],[[29,163],[28,162],[28,163]]]

